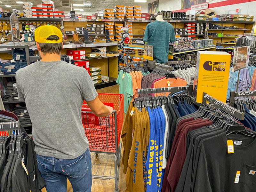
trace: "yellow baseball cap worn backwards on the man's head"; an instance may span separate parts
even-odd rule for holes
[[[56,35],[60,39],[58,40],[47,40],[51,35]],[[60,29],[52,25],[43,25],[35,29],[35,41],[37,43],[61,43],[62,33]]]

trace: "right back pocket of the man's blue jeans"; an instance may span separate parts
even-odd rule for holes
[[[79,158],[76,162],[68,165],[61,166],[64,171],[71,178],[78,178],[84,175],[88,171],[85,154]]]

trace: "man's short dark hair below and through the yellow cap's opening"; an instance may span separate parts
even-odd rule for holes
[[[47,40],[59,40],[60,38],[56,35],[51,35],[47,37]],[[60,54],[62,49],[62,43],[39,43],[41,52],[46,55],[47,53],[56,53]]]

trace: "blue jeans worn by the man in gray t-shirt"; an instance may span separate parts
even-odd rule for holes
[[[91,192],[92,162],[89,148],[75,159],[57,159],[37,154],[36,158],[47,192],[67,192],[67,178],[74,192]]]

